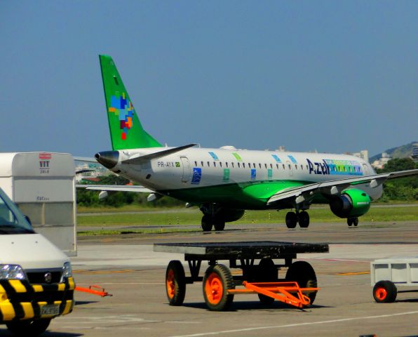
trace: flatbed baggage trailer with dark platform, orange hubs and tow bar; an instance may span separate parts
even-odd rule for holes
[[[166,270],[166,293],[170,305],[182,305],[186,284],[202,282],[203,298],[210,310],[228,310],[238,294],[257,293],[263,304],[279,300],[296,308],[312,305],[319,288],[314,268],[306,261],[293,262],[297,253],[328,253],[328,244],[292,242],[203,242],[154,244],[154,251],[184,253],[190,276],[180,260],[171,260]],[[218,263],[229,261],[229,267]],[[258,260],[258,263],[256,261]],[[283,260],[275,263],[274,260]],[[199,276],[202,261],[208,269]],[[278,270],[288,267],[284,279]],[[230,268],[242,270],[233,274]],[[243,288],[237,288],[241,287]]]

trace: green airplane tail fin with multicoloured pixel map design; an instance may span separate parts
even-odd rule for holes
[[[99,58],[113,150],[162,147],[142,128],[112,58],[108,55]]]

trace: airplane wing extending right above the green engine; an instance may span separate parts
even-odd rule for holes
[[[289,198],[295,198],[296,203],[299,204],[305,200],[309,200],[316,193],[337,195],[350,186],[369,183],[370,187],[377,187],[389,179],[403,178],[417,174],[418,169],[415,169],[391,173],[380,173],[372,176],[328,180],[322,183],[313,183],[300,187],[281,190],[270,197],[269,201],[267,201],[267,205],[271,205],[275,202],[283,201],[284,199]]]

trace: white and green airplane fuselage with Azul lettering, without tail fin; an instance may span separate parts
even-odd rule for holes
[[[119,151],[112,171],[163,195],[194,204],[222,203],[238,209],[267,209],[272,194],[293,187],[375,174],[363,159],[346,154],[189,148],[142,164],[123,161],[170,147]],[[382,186],[356,185],[371,199]],[[326,200],[316,197],[312,202]],[[277,208],[277,207],[275,207]]]

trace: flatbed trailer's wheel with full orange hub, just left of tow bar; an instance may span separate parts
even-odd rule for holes
[[[203,297],[210,310],[224,311],[229,308],[234,295],[228,289],[235,289],[231,271],[225,265],[211,265],[203,277]]]

